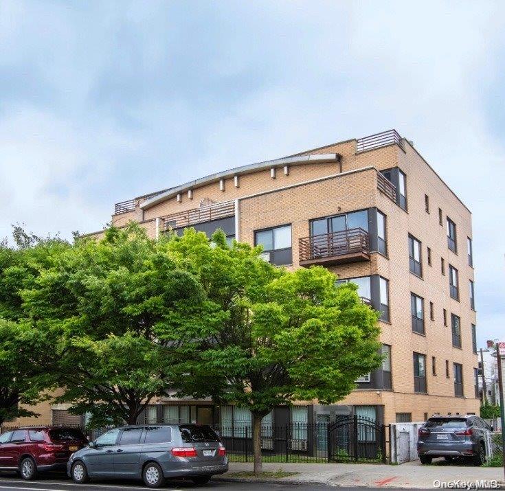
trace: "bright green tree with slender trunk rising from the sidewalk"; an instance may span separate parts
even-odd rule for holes
[[[194,378],[186,391],[210,392],[218,403],[251,411],[260,473],[261,421],[273,407],[341,400],[359,376],[379,366],[378,314],[360,301],[357,286],[335,286],[327,269],[277,269],[259,257],[259,247],[229,247],[221,232],[209,243],[189,230],[169,248],[200,279],[222,318],[187,333],[201,340],[201,351],[188,365]]]

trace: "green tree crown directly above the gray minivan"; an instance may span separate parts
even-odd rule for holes
[[[183,377],[181,333],[207,319],[205,292],[167,247],[136,225],[110,228],[103,240],[77,240],[23,292],[23,308],[54,343],[56,401],[89,413],[90,426],[135,423]]]

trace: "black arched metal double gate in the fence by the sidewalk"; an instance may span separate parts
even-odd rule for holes
[[[343,416],[328,425],[328,461],[386,463],[385,426],[368,418]]]

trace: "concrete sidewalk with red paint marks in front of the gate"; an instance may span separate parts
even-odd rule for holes
[[[229,464],[229,472],[214,479],[238,480],[234,472],[252,471],[252,463]],[[298,472],[296,475],[280,479],[267,479],[267,482],[290,484],[324,484],[339,487],[370,488],[435,488],[435,481],[498,481],[503,486],[503,468],[470,466],[421,466],[419,461],[401,466],[382,464],[263,464],[263,470],[275,472]],[[249,481],[249,478],[240,481]],[[454,486],[453,486],[454,487]],[[475,487],[475,485],[474,485]]]

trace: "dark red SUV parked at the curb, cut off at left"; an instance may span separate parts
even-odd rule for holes
[[[7,431],[0,435],[0,471],[17,470],[30,480],[38,471],[64,470],[70,455],[87,443],[80,429],[64,426]]]

